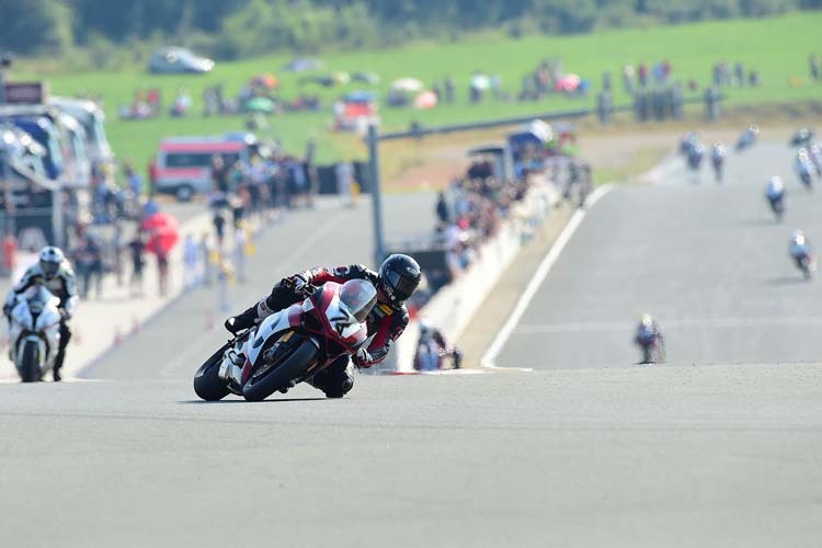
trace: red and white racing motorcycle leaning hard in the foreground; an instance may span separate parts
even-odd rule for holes
[[[240,332],[194,376],[194,391],[216,401],[229,393],[261,401],[311,378],[368,338],[377,290],[366,279],[306,286],[306,299]]]

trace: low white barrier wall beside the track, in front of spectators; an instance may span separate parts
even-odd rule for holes
[[[454,282],[442,287],[395,343],[388,359],[374,373],[414,370],[414,353],[420,338],[419,320],[439,329],[449,341],[457,341],[503,272],[521,248],[530,240],[548,218],[560,193],[547,179],[537,179],[522,202],[517,203],[500,231],[478,252],[478,259]]]

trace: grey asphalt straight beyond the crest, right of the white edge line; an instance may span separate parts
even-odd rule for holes
[[[728,159],[717,185],[671,161],[665,184],[620,186],[587,214],[495,364],[615,367],[636,363],[639,316],[660,319],[672,365],[817,362],[822,292],[788,256],[801,228],[822,243],[822,195],[792,174],[794,149],[763,144]],[[765,183],[781,175],[777,224]],[[695,182],[699,181],[699,182]],[[534,352],[539,349],[539,352]]]

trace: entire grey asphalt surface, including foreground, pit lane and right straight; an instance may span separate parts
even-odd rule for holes
[[[2,385],[0,546],[818,546],[822,367],[772,364],[822,346],[818,282],[786,255],[795,225],[822,241],[822,196],[789,182],[784,226],[762,197],[788,158],[603,197],[499,356],[533,373],[204,403],[192,376],[222,335],[197,289],[85,380]],[[305,263],[367,260],[340,215],[299,252],[316,219],[272,229],[238,309]],[[631,365],[646,309],[673,365]]]

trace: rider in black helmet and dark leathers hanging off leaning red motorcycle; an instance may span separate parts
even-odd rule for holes
[[[370,367],[383,362],[388,355],[391,343],[399,338],[408,326],[409,316],[404,301],[416,290],[422,278],[422,271],[415,260],[409,255],[392,254],[383,262],[379,272],[374,272],[362,264],[338,266],[335,269],[316,267],[283,278],[271,290],[271,295],[244,312],[226,320],[226,329],[239,333],[250,329],[264,318],[306,298],[310,286],[320,286],[326,282],[344,283],[349,279],[367,279],[377,289],[377,304],[366,319],[368,336],[373,338],[367,349],[362,347],[353,356],[357,367]],[[342,398],[354,386],[354,375],[347,356],[334,361],[329,367],[315,375],[310,384],[322,390],[329,398]]]

